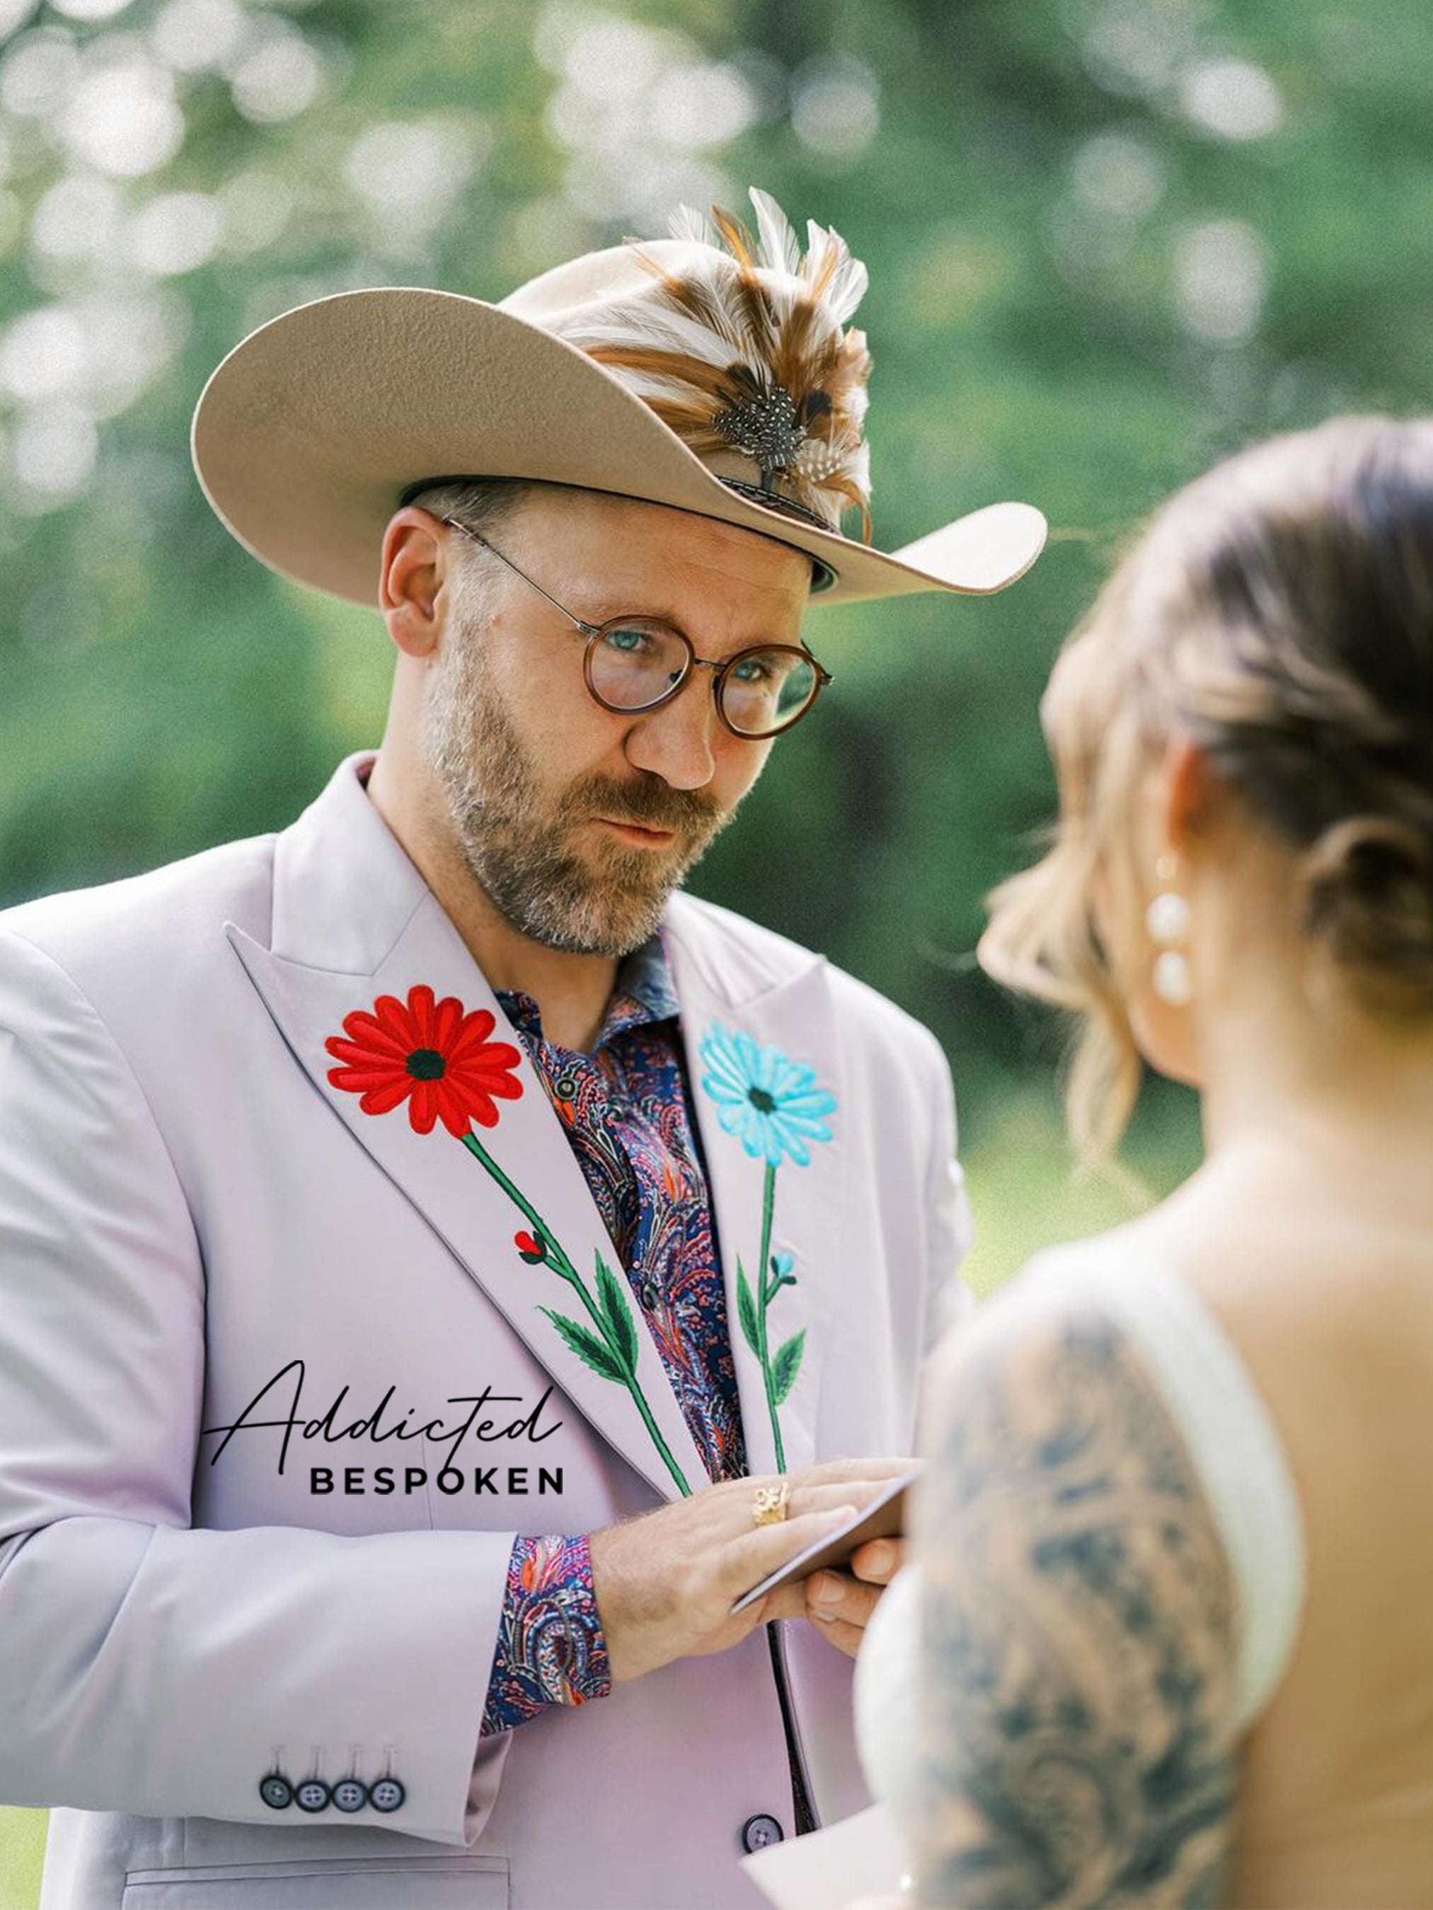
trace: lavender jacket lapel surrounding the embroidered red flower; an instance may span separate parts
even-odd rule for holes
[[[315,1091],[573,1404],[663,1497],[699,1490],[705,1467],[558,1115],[462,938],[357,783],[359,760],[340,764],[323,796],[279,837],[275,945],[266,949],[233,924],[229,940]],[[438,1001],[455,997],[464,1012],[487,1010],[489,1039],[516,1050],[508,1068],[516,1096],[495,1102],[497,1125],[472,1129],[510,1188],[441,1121],[417,1133],[409,1100],[365,1114],[359,1093],[329,1079],[340,1060],[327,1041],[344,1035],[346,1018],[373,1014],[380,997],[409,1003],[420,986]],[[516,1240],[533,1245],[537,1232],[546,1234],[541,1263],[524,1259]],[[602,1280],[598,1257],[615,1280]]]

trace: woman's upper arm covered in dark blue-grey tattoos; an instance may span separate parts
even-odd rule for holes
[[[917,1900],[1219,1902],[1234,1602],[1187,1448],[1089,1305],[971,1324],[940,1375],[921,1560]]]

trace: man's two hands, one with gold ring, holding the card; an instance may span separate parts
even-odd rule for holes
[[[730,1650],[770,1618],[804,1618],[806,1580],[768,1591],[736,1618],[732,1604],[768,1572],[867,1505],[909,1463],[909,1457],[825,1459],[787,1473],[787,1517],[774,1526],[751,1522],[757,1488],[778,1484],[778,1476],[762,1475],[722,1480],[676,1505],[588,1534],[592,1591],[613,1683],[642,1677],[674,1658]],[[890,1539],[864,1545],[860,1553],[881,1545],[890,1545]],[[858,1587],[858,1597],[873,1604],[877,1591],[871,1587],[881,1581],[873,1576],[869,1585]],[[829,1637],[835,1629],[841,1643],[841,1627],[858,1625],[845,1604],[835,1610],[837,1625],[822,1625],[822,1631]]]

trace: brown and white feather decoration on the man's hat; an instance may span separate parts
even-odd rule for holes
[[[751,189],[757,237],[724,212],[682,206],[661,258],[638,239],[655,285],[564,325],[564,338],[617,372],[701,458],[739,453],[749,497],[839,529],[862,514],[871,539],[869,451],[862,439],[871,355],[843,330],[862,302],[866,265],[829,225],[806,223],[806,254],[770,193]],[[722,248],[724,244],[724,248]]]

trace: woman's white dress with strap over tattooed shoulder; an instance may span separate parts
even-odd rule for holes
[[[1141,1356],[1204,1486],[1238,1601],[1244,1734],[1284,1675],[1303,1608],[1303,1522],[1282,1442],[1229,1335],[1167,1268],[1114,1255],[1106,1242],[1074,1242],[1037,1253],[986,1308],[1037,1314],[1074,1297],[1099,1306]],[[919,1564],[908,1564],[856,1662],[856,1740],[875,1805],[743,1862],[780,1910],[843,1910],[908,1887],[900,1818],[915,1792],[917,1601]]]

